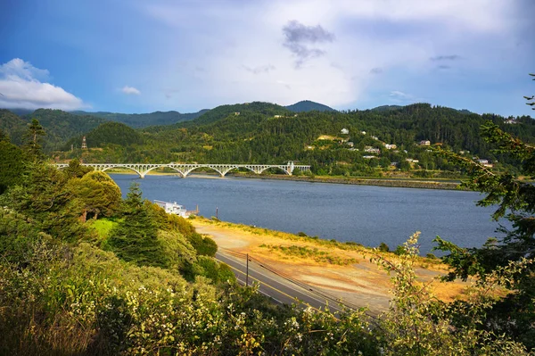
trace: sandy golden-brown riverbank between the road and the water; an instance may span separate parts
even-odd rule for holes
[[[323,240],[302,238],[283,232],[264,228],[251,228],[226,222],[214,222],[208,219],[193,219],[193,226],[201,234],[211,236],[222,249],[237,253],[250,253],[256,259],[268,263],[275,269],[290,275],[310,286],[323,289],[353,305],[367,306],[374,312],[386,310],[390,300],[390,276],[370,261],[372,251],[364,247],[350,246],[343,249],[343,244]],[[288,255],[280,249],[267,246],[282,246],[314,250],[324,256],[335,257],[342,261],[352,261],[347,265],[338,265],[326,261],[314,261],[313,257]],[[385,253],[386,258],[394,260],[396,256]],[[350,260],[353,259],[353,260]],[[437,261],[422,259],[416,269],[423,283],[431,283],[433,292],[444,301],[451,301],[462,294],[467,284],[440,283],[435,277],[446,272],[446,266]]]

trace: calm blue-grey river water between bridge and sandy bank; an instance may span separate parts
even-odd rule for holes
[[[367,246],[381,242],[391,249],[416,230],[421,252],[435,236],[461,246],[481,246],[496,236],[493,208],[476,207],[481,195],[432,189],[350,186],[248,178],[177,178],[111,175],[123,195],[134,181],[144,197],[185,205],[200,214],[226,221],[309,236],[354,241]]]

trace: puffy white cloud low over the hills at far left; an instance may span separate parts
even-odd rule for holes
[[[62,87],[40,81],[48,76],[48,70],[40,70],[20,58],[0,65],[0,107],[68,111],[89,107],[82,99],[66,92]]]

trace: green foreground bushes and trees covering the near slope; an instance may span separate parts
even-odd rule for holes
[[[383,315],[276,306],[238,286],[213,258],[217,245],[138,186],[119,199],[109,178],[76,162],[56,170],[37,149],[0,195],[0,354],[523,355],[531,347],[525,334],[509,337],[499,310],[513,301],[528,308],[514,309],[515,322],[531,315],[533,261],[523,256],[483,269],[464,263],[478,255],[456,250],[464,258],[456,274],[485,273],[466,300],[444,303],[416,279],[416,234],[396,262],[377,254],[393,272]]]

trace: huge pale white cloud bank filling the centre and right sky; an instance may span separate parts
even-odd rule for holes
[[[493,56],[508,53],[518,7],[506,0],[138,4],[163,43],[180,43],[165,46],[165,53],[154,51],[158,66],[141,75],[160,87],[177,86],[181,95],[166,102],[162,95],[147,94],[147,100],[196,109],[303,99],[349,108],[366,101],[366,93],[391,101],[420,100],[426,88],[404,83],[429,78],[439,64],[491,73],[491,63],[498,62]],[[296,68],[300,58],[313,60]],[[395,89],[400,87],[413,94],[399,95]]]

